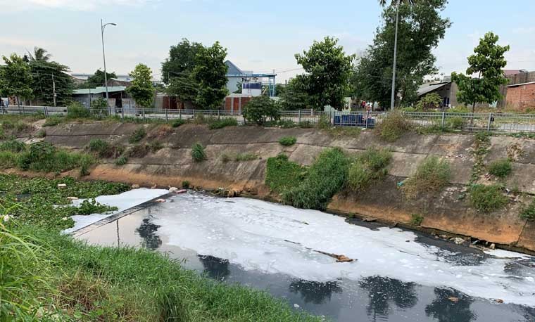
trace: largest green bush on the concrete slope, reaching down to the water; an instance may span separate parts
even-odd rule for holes
[[[332,196],[346,184],[348,157],[341,148],[324,150],[303,182],[284,191],[282,199],[297,208],[325,210]]]

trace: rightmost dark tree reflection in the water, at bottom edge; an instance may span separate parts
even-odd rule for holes
[[[470,309],[474,300],[457,290],[435,288],[435,300],[427,305],[425,314],[439,322],[470,322],[477,316]]]

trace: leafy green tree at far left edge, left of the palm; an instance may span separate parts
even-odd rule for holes
[[[30,66],[15,53],[9,58],[2,58],[6,65],[0,66],[0,92],[2,95],[15,96],[20,105],[20,98],[26,100],[33,97]]]

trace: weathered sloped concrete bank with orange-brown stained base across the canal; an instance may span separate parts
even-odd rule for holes
[[[467,203],[467,184],[474,167],[474,136],[464,134],[405,134],[395,143],[385,143],[372,131],[358,137],[329,136],[316,129],[263,129],[258,127],[227,127],[210,130],[203,125],[185,124],[162,134],[156,125],[143,124],[67,124],[46,129],[46,141],[74,150],[83,149],[91,139],[106,139],[116,145],[129,146],[130,134],[146,127],[144,142],[158,140],[160,150],[143,158],[130,158],[117,166],[105,160],[92,169],[87,179],[104,179],[137,183],[142,186],[180,186],[182,181],[206,189],[225,188],[255,198],[277,199],[265,186],[268,157],[286,153],[301,165],[310,165],[323,149],[338,146],[348,153],[358,153],[370,146],[389,147],[394,157],[386,179],[356,195],[342,191],[334,197],[328,210],[341,214],[360,214],[384,221],[409,224],[412,214],[422,214],[422,228],[436,229],[496,243],[504,248],[535,252],[535,223],[520,219],[522,207],[535,194],[535,140],[507,136],[491,137],[484,162],[512,157],[513,171],[506,180],[508,188],[522,193],[501,211],[491,214],[477,212]],[[283,136],[296,136],[291,147],[281,146]],[[142,141],[143,142],[143,141]],[[191,146],[206,146],[207,159],[194,162]],[[237,162],[222,160],[223,153],[254,153],[258,160]],[[441,193],[419,195],[406,200],[397,183],[407,178],[429,155],[446,157],[452,169],[449,186]],[[479,183],[490,183],[481,177]]]

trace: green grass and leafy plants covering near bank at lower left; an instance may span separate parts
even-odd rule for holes
[[[67,183],[58,189],[57,183]],[[0,321],[325,321],[285,300],[183,269],[168,255],[132,247],[96,247],[58,233],[67,196],[119,193],[120,183],[63,178],[0,179]],[[16,208],[8,200],[30,193]],[[89,212],[93,202],[79,212]],[[46,211],[39,211],[45,207]],[[87,207],[87,210],[83,210]],[[51,218],[54,220],[51,221]],[[44,221],[52,224],[42,226]]]

